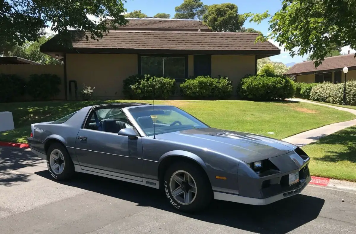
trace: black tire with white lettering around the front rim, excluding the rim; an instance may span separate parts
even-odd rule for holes
[[[178,201],[177,198],[172,195],[170,181],[173,174],[176,174],[178,171],[188,172],[190,176],[193,177],[195,182],[196,193],[193,201],[190,204],[182,204],[182,201]],[[179,187],[178,183],[176,185]],[[210,204],[211,200],[213,200],[213,190],[211,188],[208,176],[205,174],[205,171],[201,167],[186,161],[179,161],[174,163],[166,170],[164,174],[163,187],[168,202],[172,204],[173,207],[183,212],[199,212],[206,208]],[[184,196],[184,194],[181,196]]]

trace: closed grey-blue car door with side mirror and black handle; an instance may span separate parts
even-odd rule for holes
[[[82,170],[143,180],[141,137],[129,139],[117,133],[83,127],[77,135],[75,154]]]

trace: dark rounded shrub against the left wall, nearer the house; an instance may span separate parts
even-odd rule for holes
[[[61,78],[54,74],[32,74],[27,83],[27,92],[35,100],[50,100],[61,91],[61,83]]]

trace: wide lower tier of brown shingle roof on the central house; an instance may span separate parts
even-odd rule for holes
[[[159,49],[159,50],[280,50],[269,42],[258,42],[258,33],[110,31],[99,41],[81,37],[75,48]],[[278,52],[278,53],[277,53]]]

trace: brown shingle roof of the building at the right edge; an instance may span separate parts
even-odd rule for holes
[[[303,75],[321,73],[330,70],[342,70],[344,67],[356,67],[355,54],[339,55],[334,57],[325,58],[323,63],[315,68],[314,61],[307,61],[302,63],[296,63],[290,68],[286,75]]]

